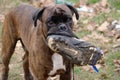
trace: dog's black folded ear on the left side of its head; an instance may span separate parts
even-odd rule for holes
[[[34,26],[36,27],[37,26],[37,19],[41,20],[42,18],[42,14],[45,10],[45,7],[40,9],[40,10],[37,10],[34,15],[33,15],[33,21],[34,21]]]

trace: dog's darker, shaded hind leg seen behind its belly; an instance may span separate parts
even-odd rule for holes
[[[25,55],[23,57],[24,78],[25,78],[25,80],[33,80],[33,77],[32,77],[30,70],[29,70],[29,61],[28,61],[29,53],[28,53],[25,45],[23,44],[22,40],[20,40],[20,42],[21,42],[22,47],[25,51]]]

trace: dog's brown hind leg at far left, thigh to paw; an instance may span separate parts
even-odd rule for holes
[[[14,52],[17,38],[11,18],[6,17],[2,30],[2,80],[7,80],[10,58]]]

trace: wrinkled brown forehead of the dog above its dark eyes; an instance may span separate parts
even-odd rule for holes
[[[51,16],[62,16],[62,15],[72,16],[72,12],[64,4],[56,4],[56,5],[52,5],[52,6],[47,6],[43,15],[46,16],[45,18],[48,18]]]

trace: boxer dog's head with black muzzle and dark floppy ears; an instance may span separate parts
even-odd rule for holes
[[[79,19],[77,10],[68,4],[57,4],[54,6],[44,7],[35,12],[33,16],[34,26],[37,26],[37,20],[42,22],[45,35],[64,35],[76,37],[72,32],[73,20],[75,14]]]

